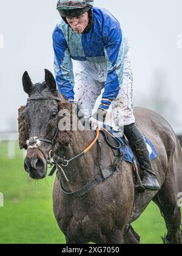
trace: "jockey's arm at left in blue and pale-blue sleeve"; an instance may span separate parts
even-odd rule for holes
[[[73,63],[67,47],[67,41],[60,27],[53,32],[53,49],[55,52],[55,77],[60,93],[69,101],[74,99]]]

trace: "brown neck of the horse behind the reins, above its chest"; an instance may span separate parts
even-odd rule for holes
[[[73,135],[73,143],[66,148],[64,153],[66,160],[70,160],[83,152],[92,143],[94,138],[95,133],[93,131],[76,131]],[[66,182],[62,172],[59,170],[64,188],[75,191],[90,182],[98,174],[97,159],[98,148],[97,144],[95,144],[86,155],[76,158],[69,163],[69,166],[62,168],[69,182]]]

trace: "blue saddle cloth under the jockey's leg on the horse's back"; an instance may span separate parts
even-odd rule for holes
[[[126,141],[126,137],[124,138],[123,132],[120,130],[119,132],[115,132],[114,130],[110,129],[110,127],[104,125],[104,129],[106,129],[108,132],[110,132],[113,137],[111,137],[108,133],[104,132],[104,137],[106,139],[107,144],[110,144],[109,146],[113,148],[113,152],[116,156],[119,154],[123,154],[123,160],[129,163],[133,163],[134,158],[136,159],[137,165],[140,166],[140,163],[137,159],[137,157],[134,155],[132,149],[130,148],[129,144]],[[144,135],[144,134],[143,134]],[[146,139],[147,148],[150,154],[150,160],[154,160],[158,157],[158,152],[156,151],[155,147],[153,146],[152,142],[149,140],[149,138],[144,135],[144,138]],[[108,143],[109,140],[109,143]],[[118,143],[117,143],[118,141]],[[121,144],[121,147],[117,150],[115,149],[116,144]],[[113,145],[113,147],[112,147]]]

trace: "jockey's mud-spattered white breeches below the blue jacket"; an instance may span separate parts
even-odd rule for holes
[[[107,63],[76,62],[75,101],[82,105],[86,115],[92,115],[92,110],[96,100],[101,95],[106,78]],[[120,88],[117,98],[112,101],[110,106],[111,119],[114,122],[112,124],[115,127],[135,123],[133,116],[133,77],[129,53],[124,60],[123,84]]]

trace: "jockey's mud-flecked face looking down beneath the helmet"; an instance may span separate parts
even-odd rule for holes
[[[66,18],[66,20],[76,34],[81,34],[89,24],[89,13],[86,12],[78,17]]]

